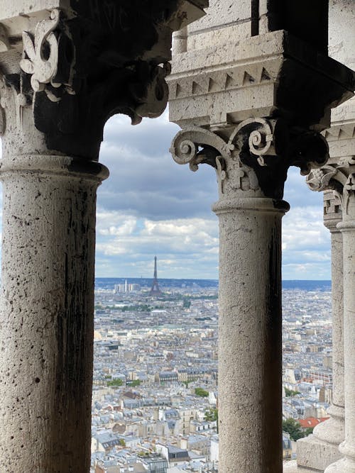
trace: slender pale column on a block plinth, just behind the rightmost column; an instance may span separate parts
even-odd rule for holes
[[[308,184],[317,190],[311,173]],[[332,235],[332,325],[333,399],[329,420],[317,425],[312,435],[297,441],[298,467],[324,472],[339,460],[339,443],[344,440],[344,340],[343,340],[343,245],[337,223],[342,220],[341,204],[332,190],[324,191],[324,225]],[[302,470],[300,470],[302,471]]]

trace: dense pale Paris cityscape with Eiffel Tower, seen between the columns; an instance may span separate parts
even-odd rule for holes
[[[92,473],[218,472],[217,364],[216,280],[97,278]],[[285,462],[331,402],[330,282],[285,281]]]

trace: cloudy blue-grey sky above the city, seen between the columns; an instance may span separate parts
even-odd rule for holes
[[[97,196],[97,277],[218,279],[217,201],[212,167],[173,161],[170,143],[180,128],[160,118],[131,126],[114,116],[105,126],[99,160],[110,177]],[[331,279],[330,235],[322,223],[322,194],[291,168],[284,199],[283,279]]]

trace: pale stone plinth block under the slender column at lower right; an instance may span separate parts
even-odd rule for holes
[[[337,462],[341,457],[338,445],[324,442],[316,438],[315,435],[297,440],[297,464],[299,467],[324,472],[329,464]]]

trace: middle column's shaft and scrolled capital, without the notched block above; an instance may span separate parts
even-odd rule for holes
[[[195,171],[207,163],[217,171],[222,473],[283,470],[280,239],[288,210],[282,200],[287,156],[293,149],[285,145],[287,130],[283,120],[251,118],[239,123],[228,141],[191,127],[178,133],[171,147],[179,164],[188,162]],[[298,137],[294,143],[297,159],[300,142]],[[327,146],[320,135],[312,136],[312,149],[324,159]]]

